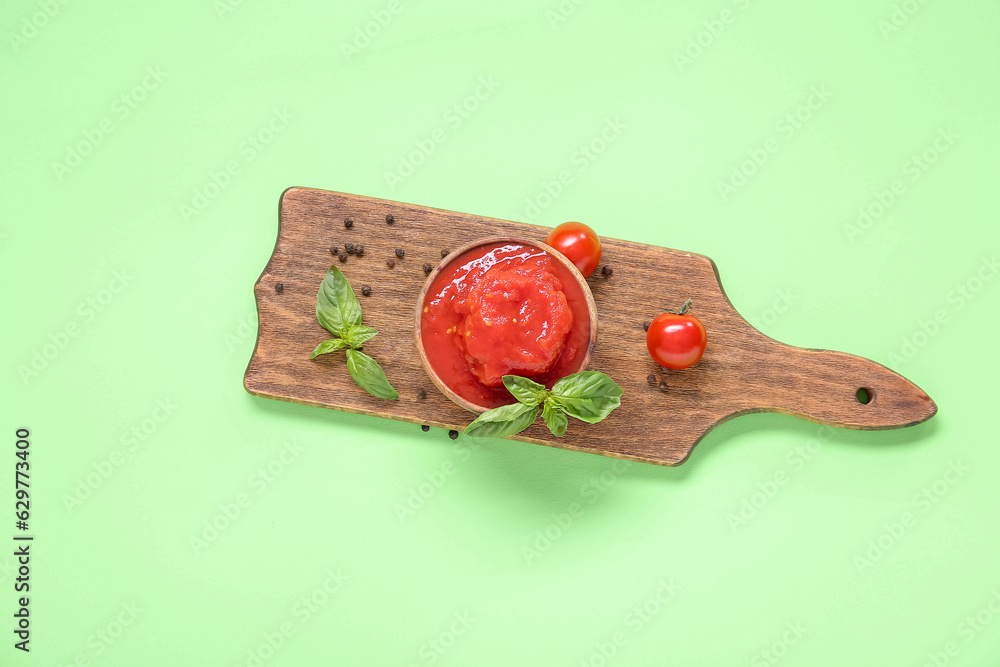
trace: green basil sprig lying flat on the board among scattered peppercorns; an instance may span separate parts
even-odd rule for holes
[[[399,393],[389,384],[378,362],[360,351],[361,346],[374,338],[378,331],[361,324],[361,302],[336,266],[330,267],[319,286],[316,319],[336,338],[317,345],[309,354],[310,359],[346,349],[347,372],[359,387],[376,398],[399,398]]]

